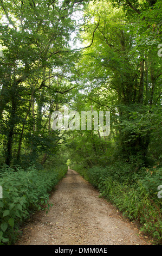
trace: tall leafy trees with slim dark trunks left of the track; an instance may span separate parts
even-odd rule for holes
[[[66,101],[58,94],[64,96],[76,87],[74,76],[68,75],[75,58],[69,40],[75,29],[72,13],[83,3],[40,0],[0,3],[3,46],[0,119],[7,164],[13,159],[12,147],[17,147],[17,141],[14,154],[17,161],[22,143],[24,148],[27,145],[30,148],[31,144],[33,153],[40,150],[40,143],[42,150],[47,148],[46,139],[40,137],[42,129],[50,130],[42,126],[43,109],[48,109],[44,114],[49,112],[49,124],[51,112]]]

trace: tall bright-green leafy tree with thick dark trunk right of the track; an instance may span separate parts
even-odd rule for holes
[[[114,9],[109,2],[118,8]],[[81,72],[87,86],[89,83],[93,88],[92,102],[111,109],[113,119],[118,122],[116,143],[120,142],[118,148],[122,154],[128,161],[133,155],[141,155],[145,161],[150,129],[147,132],[144,127],[140,132],[132,129],[130,117],[134,112],[139,117],[146,115],[154,104],[160,104],[161,71],[157,57],[160,1],[154,6],[140,1],[109,2],[89,3],[86,10],[86,29],[81,38],[90,47],[83,51]],[[159,22],[156,32],[155,26],[151,26],[155,17]],[[152,35],[154,40],[150,42]],[[127,129],[123,129],[125,124]]]

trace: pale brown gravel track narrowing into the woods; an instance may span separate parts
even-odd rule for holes
[[[151,245],[138,224],[123,217],[99,192],[69,169],[50,195],[51,206],[22,227],[16,245]]]

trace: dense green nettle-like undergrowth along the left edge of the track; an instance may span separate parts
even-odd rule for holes
[[[66,174],[67,166],[56,170],[38,170],[34,166],[27,169],[17,167],[17,171],[3,166],[0,185],[3,199],[0,199],[0,243],[15,242],[20,224],[35,210],[48,211],[49,192]],[[46,208],[44,208],[46,207]]]

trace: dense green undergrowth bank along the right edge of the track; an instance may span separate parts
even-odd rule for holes
[[[117,168],[118,167],[118,168]],[[128,173],[131,166],[116,162],[103,168],[75,169],[94,187],[100,195],[110,200],[124,216],[137,220],[141,230],[162,242],[162,202],[158,198],[158,186],[162,185],[162,168],[143,168],[142,174]],[[84,174],[84,175],[83,175]],[[121,176],[119,176],[122,174]]]

